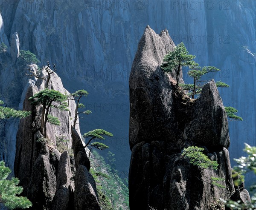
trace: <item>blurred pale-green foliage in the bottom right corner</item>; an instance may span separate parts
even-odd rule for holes
[[[247,157],[240,157],[239,159],[234,159],[238,165],[234,167],[236,173],[233,173],[233,177],[237,177],[234,184],[239,186],[241,182],[244,182],[244,175],[250,171],[253,171],[256,174],[256,147],[251,147],[248,144],[245,144],[244,151],[247,153]],[[251,193],[251,203],[247,202],[242,204],[241,201],[232,201],[232,200],[223,200],[227,207],[231,210],[255,210],[256,209],[256,183],[250,187]]]

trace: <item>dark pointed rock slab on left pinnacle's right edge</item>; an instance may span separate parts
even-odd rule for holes
[[[74,151],[74,157],[75,157],[75,163],[76,163],[76,169],[79,165],[84,165],[87,167],[87,170],[90,170],[90,161],[87,157],[86,151],[84,149],[84,145],[82,143],[82,140],[77,133],[77,131],[72,127],[72,137],[73,137],[73,151]]]

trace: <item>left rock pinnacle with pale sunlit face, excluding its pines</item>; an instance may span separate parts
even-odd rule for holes
[[[46,76],[45,70],[42,70],[42,75]],[[29,86],[23,110],[31,111],[32,115],[20,120],[17,131],[14,172],[23,186],[23,195],[32,201],[30,209],[33,210],[100,209],[96,184],[89,173],[90,162],[79,134],[79,124],[76,129],[72,127],[75,102],[68,102],[69,111],[50,110],[53,116],[58,117],[61,125],[53,126],[47,123],[46,138],[39,131],[42,109],[31,105],[29,97],[43,90],[44,86],[45,80],[41,79],[38,79],[35,85]],[[55,73],[51,74],[48,88],[69,94]],[[67,151],[61,154],[56,141],[58,145],[66,148],[73,146],[74,154]],[[70,158],[73,155],[74,158]],[[70,162],[73,165],[75,162],[75,169]]]

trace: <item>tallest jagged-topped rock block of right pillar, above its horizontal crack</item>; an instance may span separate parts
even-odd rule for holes
[[[174,135],[172,86],[159,67],[164,55],[174,46],[168,31],[158,35],[149,26],[145,28],[129,80],[131,149],[140,141],[150,142],[165,136],[171,140]]]

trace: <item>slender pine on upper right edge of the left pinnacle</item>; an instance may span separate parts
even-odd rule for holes
[[[88,92],[85,90],[79,90],[73,94],[70,94],[69,100],[75,100],[75,102],[76,102],[75,118],[74,118],[74,123],[73,123],[74,128],[76,128],[76,121],[79,118],[79,114],[91,114],[92,113],[90,110],[79,111],[79,109],[85,108],[84,104],[82,104],[80,102],[80,99],[82,96],[86,97],[87,95],[88,95]]]

